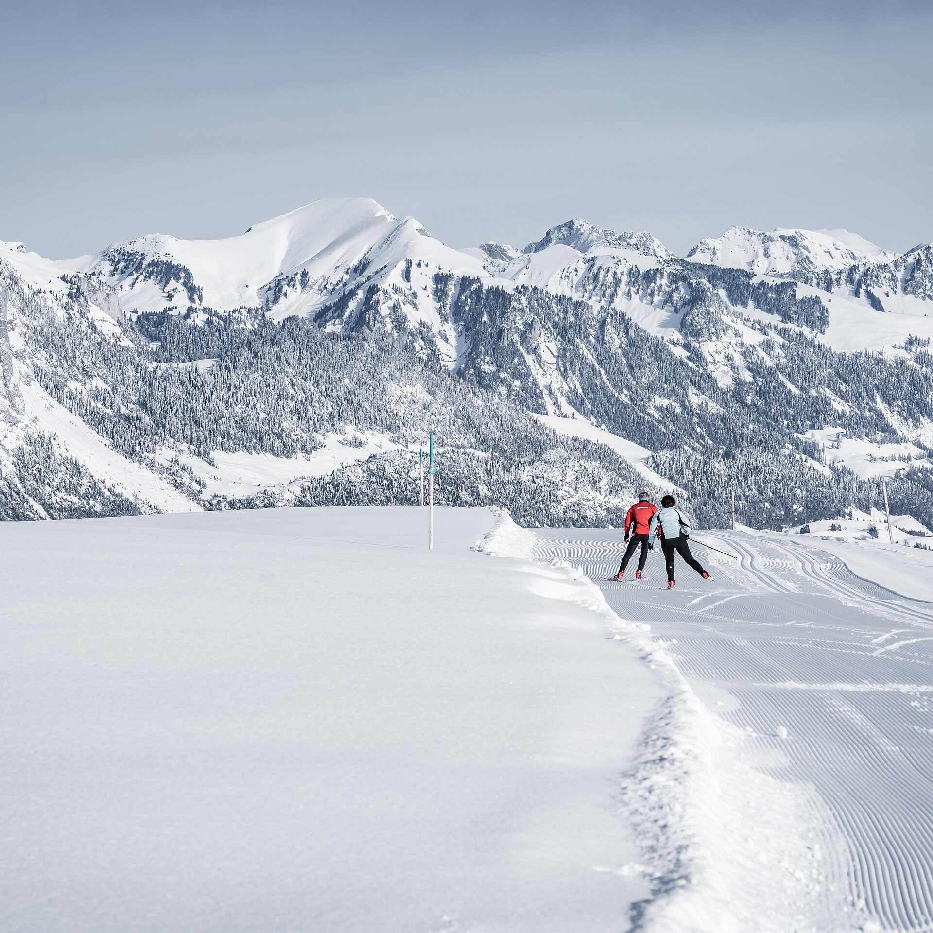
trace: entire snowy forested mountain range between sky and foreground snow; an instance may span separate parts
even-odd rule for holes
[[[414,503],[430,431],[440,503],[529,525],[618,525],[648,485],[780,529],[877,508],[881,476],[929,524],[929,309],[933,247],[844,230],[455,250],[361,199],[76,260],[3,244],[0,517]]]

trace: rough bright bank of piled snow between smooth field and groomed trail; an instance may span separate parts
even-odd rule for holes
[[[826,833],[819,823],[832,824],[825,805],[809,788],[760,771],[756,765],[774,762],[746,755],[745,733],[711,714],[647,635],[617,637],[643,648],[670,692],[620,787],[623,811],[642,846],[639,861],[625,869],[652,886],[634,928],[837,928],[810,926],[844,907],[842,892],[833,898],[834,909],[825,903],[827,853],[820,841]],[[786,737],[787,730],[779,729]]]

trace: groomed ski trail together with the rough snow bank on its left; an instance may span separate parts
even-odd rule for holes
[[[930,555],[839,543],[884,589],[810,536],[695,537],[740,558],[692,546],[715,584],[677,559],[675,592],[660,591],[655,551],[644,581],[598,583],[633,630],[650,626],[630,641],[653,646],[685,690],[623,783],[655,895],[636,928],[929,930],[933,605],[892,591],[904,561],[916,576]],[[541,560],[579,562],[597,580],[618,568],[619,531],[537,538]],[[912,594],[933,599],[931,581]]]

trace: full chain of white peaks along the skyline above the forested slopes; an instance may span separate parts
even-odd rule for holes
[[[82,273],[82,281],[98,283],[101,295],[101,285],[111,286],[126,314],[169,311],[201,321],[208,313],[258,308],[276,321],[312,316],[327,329],[414,333],[425,350],[455,368],[464,362],[466,342],[462,328],[449,319],[449,305],[463,282],[508,292],[543,288],[615,308],[656,336],[681,341],[685,334],[698,336],[701,316],[691,320],[681,312],[691,296],[712,284],[711,274],[697,268],[701,264],[817,289],[799,288],[796,294],[822,305],[821,339],[836,349],[879,349],[909,336],[926,339],[933,336],[933,315],[924,318],[933,295],[928,252],[921,246],[898,258],[847,230],[732,228],[703,240],[688,262],[650,233],[616,233],[580,219],[547,230],[522,250],[494,243],[455,250],[414,218],[398,219],[377,202],[331,199],[221,240],[153,234],[93,256],[55,262],[30,257],[43,270],[40,279],[50,281],[58,270]],[[116,302],[104,301],[111,310]],[[730,307],[731,316],[717,313]],[[738,321],[746,311],[727,296],[721,309],[703,315],[703,328],[717,331],[718,358],[711,365],[720,371],[723,339],[747,338]],[[880,322],[879,311],[911,319]]]

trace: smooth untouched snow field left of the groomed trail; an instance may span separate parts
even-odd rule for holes
[[[0,929],[625,928],[658,672],[497,521],[0,524]]]

